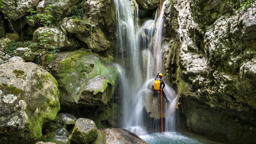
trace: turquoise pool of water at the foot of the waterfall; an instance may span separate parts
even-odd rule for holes
[[[152,133],[139,137],[148,144],[221,144],[187,132]]]

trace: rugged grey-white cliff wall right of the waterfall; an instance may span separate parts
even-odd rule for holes
[[[165,9],[170,25],[165,69],[188,129],[224,143],[256,142],[250,138],[256,134],[255,2],[251,5],[239,11],[236,1],[173,0]]]

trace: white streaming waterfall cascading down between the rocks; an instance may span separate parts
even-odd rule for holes
[[[164,6],[158,19],[156,19],[156,16],[155,20],[146,21],[139,29],[137,23],[138,8],[135,10],[132,8],[132,1],[114,0],[114,3],[117,15],[117,51],[119,59],[119,65],[116,66],[119,70],[119,88],[123,107],[122,127],[137,135],[145,135],[147,134],[144,128],[147,117],[143,113],[145,97],[142,95],[145,94],[145,91],[151,90],[150,87],[154,80],[152,78],[158,72],[158,66],[163,71],[161,51],[160,62],[158,57],[164,28],[164,19],[162,18]],[[140,40],[141,37],[142,41]],[[142,45],[140,45],[140,42],[142,42]],[[143,48],[140,48],[140,46],[144,48],[142,52],[140,50]],[[140,54],[144,57],[142,60]],[[141,66],[141,61],[143,66]],[[144,83],[142,84],[142,82]],[[170,100],[170,103],[163,104],[165,131],[174,131],[174,111],[177,97],[168,85],[166,85],[164,91]],[[161,105],[161,103],[159,104]],[[159,125],[158,119],[155,121],[155,124]]]

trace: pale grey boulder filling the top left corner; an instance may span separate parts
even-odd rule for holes
[[[6,12],[6,15],[13,19],[18,20],[25,16],[29,9],[34,9],[39,4],[40,0],[6,0],[2,1],[0,9]]]

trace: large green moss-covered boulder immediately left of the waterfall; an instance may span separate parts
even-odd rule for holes
[[[68,108],[107,104],[117,85],[117,68],[86,50],[48,54],[43,66],[59,83],[61,104]]]

